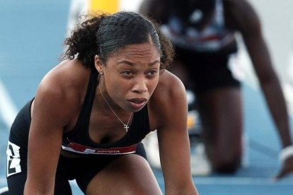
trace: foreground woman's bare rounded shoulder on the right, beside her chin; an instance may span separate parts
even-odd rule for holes
[[[187,100],[185,87],[180,79],[165,70],[161,73],[159,84],[149,100],[150,117],[154,129],[169,122],[178,113],[185,116]]]

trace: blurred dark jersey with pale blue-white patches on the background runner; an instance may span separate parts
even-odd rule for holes
[[[193,21],[195,23],[197,18],[203,18],[202,14],[200,10],[195,9],[190,14],[188,23],[193,23]],[[161,30],[174,45],[183,49],[192,49],[197,52],[218,52],[231,43],[234,43],[236,47],[234,32],[225,28],[224,25],[222,0],[216,0],[214,17],[203,30],[198,30],[193,25],[187,25],[176,15],[170,16],[168,23],[161,25]]]

